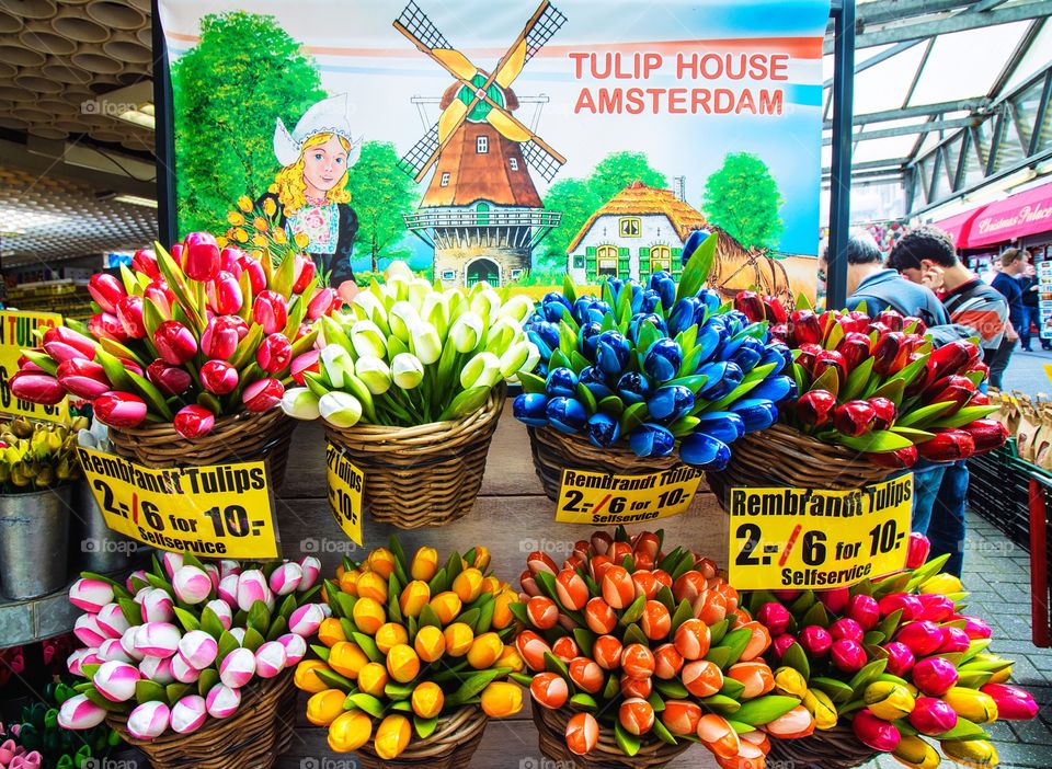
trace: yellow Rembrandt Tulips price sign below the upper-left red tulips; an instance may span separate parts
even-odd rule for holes
[[[103,518],[114,531],[203,558],[277,558],[266,466],[233,462],[155,470],[78,448]]]

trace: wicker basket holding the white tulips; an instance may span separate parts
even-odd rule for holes
[[[474,505],[505,393],[499,384],[484,406],[455,422],[329,427],[327,435],[365,473],[364,504],[375,520],[401,529],[444,526]]]

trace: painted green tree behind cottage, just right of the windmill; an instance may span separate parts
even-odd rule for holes
[[[561,211],[559,227],[542,245],[538,264],[544,269],[564,272],[567,248],[595,210],[632,182],[650,187],[665,187],[663,173],[651,167],[644,152],[611,152],[595,167],[587,179],[564,179],[556,182],[545,196],[545,207]]]

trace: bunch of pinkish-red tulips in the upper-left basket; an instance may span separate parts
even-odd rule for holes
[[[44,333],[44,351],[25,353],[11,391],[44,404],[69,393],[111,427],[171,423],[190,440],[222,416],[276,408],[312,360],[317,334],[305,321],[339,301],[318,288],[309,256],[275,267],[205,232],[171,254],[138,251],[121,278],[96,274],[88,290],[96,314]]]

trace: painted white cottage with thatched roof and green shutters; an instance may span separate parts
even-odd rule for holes
[[[588,217],[567,248],[567,272],[576,284],[605,277],[647,282],[667,271],[678,279],[683,244],[706,227],[701,213],[671,190],[632,182]]]

